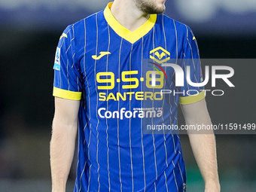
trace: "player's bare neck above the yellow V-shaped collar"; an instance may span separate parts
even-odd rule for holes
[[[133,1],[115,0],[111,6],[111,13],[122,26],[133,32],[147,22],[150,15],[140,11],[135,3],[131,2]]]

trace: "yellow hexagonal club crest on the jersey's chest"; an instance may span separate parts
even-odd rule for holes
[[[163,47],[157,47],[150,51],[150,58],[155,62],[163,63],[170,59],[171,53],[168,50],[163,49]]]

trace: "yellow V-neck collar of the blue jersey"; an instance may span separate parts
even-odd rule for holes
[[[131,44],[134,44],[140,38],[145,36],[154,27],[154,24],[157,21],[157,14],[151,14],[148,21],[146,21],[135,31],[131,32],[129,29],[126,29],[124,26],[122,26],[114,18],[113,14],[110,11],[112,4],[113,2],[108,3],[104,10],[105,20],[107,21],[108,25],[111,26],[111,28],[114,30],[114,32],[117,33],[117,35],[119,35],[121,38],[126,39],[126,41],[129,41]]]

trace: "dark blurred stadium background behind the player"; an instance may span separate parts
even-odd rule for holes
[[[53,59],[63,29],[107,0],[0,1],[0,191],[50,191]],[[166,14],[194,30],[201,58],[256,58],[254,0],[168,0]],[[213,123],[255,123],[256,63],[229,64],[236,88],[207,96]],[[234,64],[235,65],[235,64]],[[222,87],[221,87],[222,86]],[[183,120],[181,118],[180,122]],[[187,192],[203,191],[186,135]],[[224,192],[256,191],[256,135],[217,135]],[[69,176],[72,191],[75,166]]]

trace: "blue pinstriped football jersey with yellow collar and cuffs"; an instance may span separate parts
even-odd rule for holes
[[[131,32],[110,8],[68,26],[56,50],[53,96],[81,100],[74,191],[185,191],[178,134],[154,127],[177,126],[178,102],[204,98],[168,66],[200,82],[197,41],[163,14]]]

